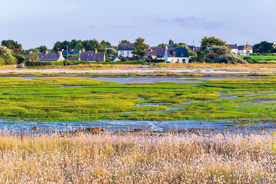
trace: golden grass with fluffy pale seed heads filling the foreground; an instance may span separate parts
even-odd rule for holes
[[[275,135],[1,135],[0,183],[275,183]]]

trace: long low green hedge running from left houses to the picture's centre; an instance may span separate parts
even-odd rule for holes
[[[116,65],[116,64],[130,64],[130,65],[145,65],[146,62],[144,61],[125,61],[125,62],[91,62],[91,61],[69,61],[64,60],[64,65],[78,65],[78,64],[110,64],[110,65]]]

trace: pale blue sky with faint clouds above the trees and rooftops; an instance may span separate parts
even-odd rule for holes
[[[276,0],[0,1],[0,41],[23,49],[94,38],[116,46],[139,36],[150,46],[169,39],[200,46],[203,36],[239,45],[276,41]]]

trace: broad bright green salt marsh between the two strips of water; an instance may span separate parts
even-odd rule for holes
[[[79,77],[0,78],[0,118],[38,121],[276,118],[275,83],[274,77],[151,84],[117,84]],[[136,106],[147,102],[164,104]],[[180,109],[166,111],[176,106]]]

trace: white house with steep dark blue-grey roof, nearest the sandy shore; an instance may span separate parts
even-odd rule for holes
[[[165,63],[188,63],[189,62],[189,54],[188,49],[186,47],[172,47],[172,48],[165,48]]]

